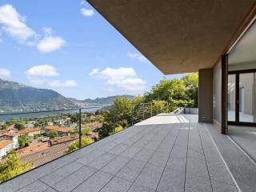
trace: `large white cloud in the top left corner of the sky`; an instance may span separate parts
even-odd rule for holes
[[[28,38],[36,36],[34,30],[26,26],[26,18],[14,8],[14,6],[6,4],[0,6],[0,24],[10,36],[25,42]]]

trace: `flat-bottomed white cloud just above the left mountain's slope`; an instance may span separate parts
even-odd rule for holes
[[[54,66],[50,65],[32,66],[25,74],[28,77],[54,77],[59,75]]]

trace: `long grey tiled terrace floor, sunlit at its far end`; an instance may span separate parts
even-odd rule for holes
[[[196,115],[161,114],[22,174],[1,192],[238,191]]]

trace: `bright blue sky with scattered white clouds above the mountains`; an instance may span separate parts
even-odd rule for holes
[[[79,99],[143,94],[164,77],[81,0],[1,0],[0,57],[0,78]]]

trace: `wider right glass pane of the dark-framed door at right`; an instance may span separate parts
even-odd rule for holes
[[[239,122],[256,122],[255,75],[239,74]]]

